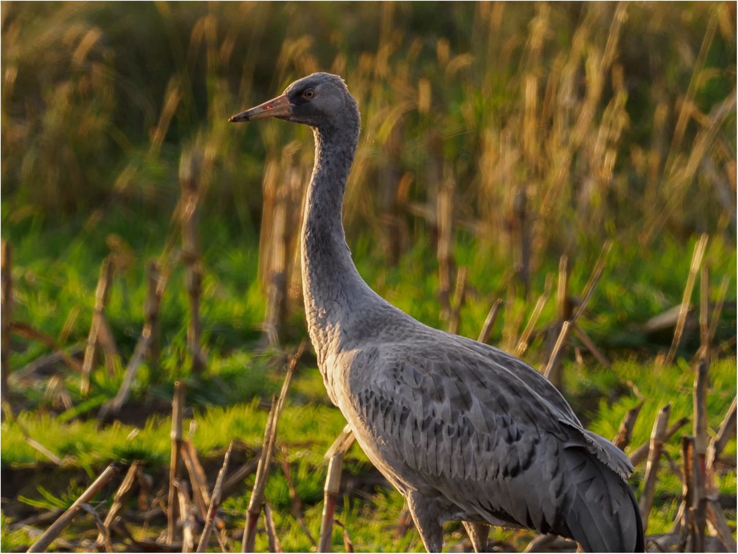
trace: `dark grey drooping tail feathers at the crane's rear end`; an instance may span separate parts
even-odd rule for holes
[[[630,486],[581,449],[567,451],[572,471],[566,523],[585,552],[643,552],[641,513]]]

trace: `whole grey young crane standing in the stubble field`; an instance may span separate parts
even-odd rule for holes
[[[486,544],[478,524],[492,524],[570,537],[586,551],[643,552],[623,452],[583,429],[523,361],[415,321],[359,276],[341,208],[361,124],[340,77],[304,77],[232,120],[271,115],[314,129],[303,294],[325,389],[407,499],[426,549],[440,552],[443,522],[458,519],[475,549]]]

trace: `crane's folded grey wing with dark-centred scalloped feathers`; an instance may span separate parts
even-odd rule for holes
[[[570,506],[576,496],[584,505],[606,507],[610,519],[630,514],[630,497],[619,489],[632,471],[627,457],[582,429],[535,370],[466,343],[382,344],[369,349],[376,350],[371,356],[359,351],[341,370],[348,375],[345,398],[356,405],[377,448],[393,450],[381,455],[413,472],[403,477],[407,470],[390,463],[400,472],[397,480],[435,488],[469,513],[489,505],[483,511],[491,521],[575,536],[601,536],[607,525],[612,530],[616,521],[583,509],[571,512]],[[568,453],[574,451],[581,456],[572,465]]]

